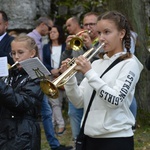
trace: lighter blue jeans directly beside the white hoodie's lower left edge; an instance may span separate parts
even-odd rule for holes
[[[68,115],[70,117],[70,124],[73,138],[76,139],[79,132],[80,132],[80,124],[81,119],[83,116],[83,108],[76,108],[74,105],[69,101],[69,108],[68,108]]]

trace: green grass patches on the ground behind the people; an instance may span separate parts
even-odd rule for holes
[[[63,107],[63,115],[66,121],[66,131],[62,136],[56,136],[62,145],[72,145],[71,127],[67,115],[67,105]],[[142,111],[137,115],[137,128],[134,135],[135,150],[150,150],[150,114]],[[45,137],[41,124],[41,150],[51,150]]]

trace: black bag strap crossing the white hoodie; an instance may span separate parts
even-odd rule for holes
[[[102,75],[100,76],[100,78],[103,77],[103,75],[108,72],[112,67],[114,67],[117,63],[121,62],[123,59],[121,59],[120,57],[117,58],[103,73]],[[84,131],[84,126],[85,126],[85,121],[87,119],[87,116],[88,116],[88,113],[89,113],[89,110],[91,108],[91,105],[92,105],[92,102],[94,100],[94,97],[95,97],[95,94],[96,94],[96,91],[93,90],[93,93],[92,93],[92,96],[91,96],[91,99],[90,99],[90,102],[89,102],[89,105],[88,105],[88,108],[86,110],[86,114],[85,114],[85,117],[84,117],[84,120],[83,120],[83,124],[82,124],[82,127],[81,127],[81,132]]]

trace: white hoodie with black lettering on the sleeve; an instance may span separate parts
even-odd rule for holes
[[[117,53],[111,58],[104,55],[104,59],[94,61],[92,69],[85,74],[80,86],[77,85],[75,77],[72,77],[65,85],[69,100],[77,108],[83,107],[84,115],[92,91],[96,90],[84,127],[84,133],[90,137],[130,137],[133,135],[131,127],[135,124],[135,118],[129,106],[133,100],[135,86],[143,65],[133,55],[132,58],[115,65],[100,78],[108,66],[124,53]]]

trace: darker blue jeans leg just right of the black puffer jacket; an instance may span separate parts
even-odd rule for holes
[[[47,141],[51,148],[60,146],[58,139],[55,137],[55,131],[52,123],[52,109],[48,103],[48,97],[44,95],[41,108],[42,122],[45,130]]]

